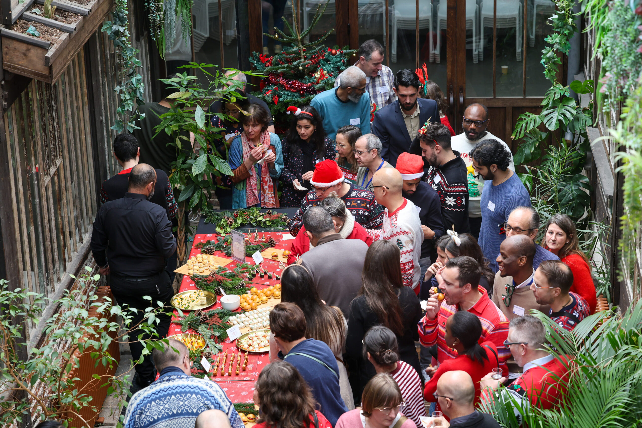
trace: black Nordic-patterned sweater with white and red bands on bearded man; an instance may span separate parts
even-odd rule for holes
[[[444,226],[465,234],[471,231],[468,224],[468,171],[458,151],[457,156],[440,166],[431,166],[424,180],[437,191],[442,205]]]

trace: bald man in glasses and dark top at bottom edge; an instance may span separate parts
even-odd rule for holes
[[[444,373],[437,382],[435,396],[451,427],[499,428],[492,416],[475,410],[475,387],[468,373],[461,370]]]

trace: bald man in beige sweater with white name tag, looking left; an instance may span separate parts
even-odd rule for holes
[[[535,243],[528,235],[512,235],[504,239],[499,246],[497,264],[499,270],[495,275],[492,301],[512,320],[524,316],[531,309],[548,314],[550,306],[540,305],[530,286],[533,284],[533,258]]]

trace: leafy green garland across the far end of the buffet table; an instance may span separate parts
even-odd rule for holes
[[[286,227],[287,214],[273,213],[272,210],[261,212],[257,208],[242,208],[234,212],[204,210],[205,223],[216,224],[216,233],[229,234],[232,229],[252,225],[252,227]]]

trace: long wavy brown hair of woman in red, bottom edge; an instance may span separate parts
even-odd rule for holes
[[[256,382],[261,413],[257,423],[271,428],[310,428],[317,402],[292,364],[277,359],[265,366]]]

